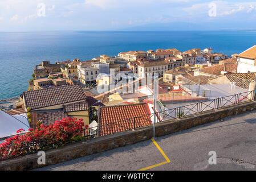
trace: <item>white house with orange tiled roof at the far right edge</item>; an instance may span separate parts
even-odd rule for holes
[[[256,72],[256,46],[243,51],[237,56],[237,73]]]

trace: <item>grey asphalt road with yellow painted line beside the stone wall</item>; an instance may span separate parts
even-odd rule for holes
[[[148,170],[255,170],[256,113],[155,138],[170,163]],[[216,151],[217,164],[208,155]],[[165,162],[152,140],[35,170],[138,170]]]

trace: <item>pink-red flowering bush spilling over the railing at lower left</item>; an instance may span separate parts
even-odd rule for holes
[[[0,160],[30,154],[38,150],[58,148],[64,144],[82,139],[83,119],[63,118],[51,126],[41,124],[36,129],[29,129],[23,135],[16,135],[0,144]],[[85,126],[88,128],[88,125]],[[25,131],[17,130],[17,133]]]

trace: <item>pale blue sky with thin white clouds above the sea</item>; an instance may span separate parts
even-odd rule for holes
[[[255,20],[250,0],[0,0],[0,31],[256,30]]]

